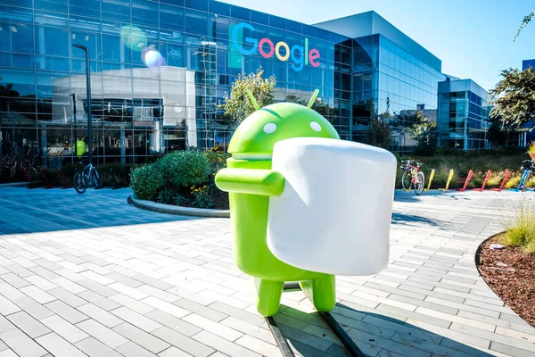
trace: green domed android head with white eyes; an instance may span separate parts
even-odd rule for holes
[[[316,93],[310,102],[313,103],[314,100]],[[230,140],[228,152],[233,154],[235,159],[269,160],[273,153],[273,145],[284,139],[292,137],[339,139],[333,125],[309,107],[293,103],[277,103],[253,112],[236,129]]]

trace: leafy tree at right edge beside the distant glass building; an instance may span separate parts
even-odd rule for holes
[[[535,120],[535,71],[532,67],[525,71],[508,69],[501,71],[501,79],[489,94],[491,118],[501,118],[509,125],[520,126]]]

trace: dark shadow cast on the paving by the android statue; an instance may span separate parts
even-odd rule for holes
[[[336,304],[331,315],[366,356],[493,356],[403,320],[371,311],[358,311],[341,303]],[[288,307],[274,318],[283,335],[301,355],[348,355],[317,312],[305,313]]]

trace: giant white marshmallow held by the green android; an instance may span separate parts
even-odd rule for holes
[[[350,141],[296,137],[276,143],[272,169],[284,192],[270,197],[268,247],[295,267],[369,275],[389,262],[397,161]]]

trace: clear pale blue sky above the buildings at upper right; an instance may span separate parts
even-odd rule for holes
[[[535,0],[221,0],[307,24],[374,10],[442,61],[442,72],[489,90],[535,58]]]

